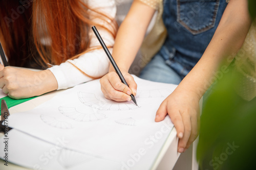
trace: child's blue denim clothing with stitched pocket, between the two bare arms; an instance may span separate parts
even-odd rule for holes
[[[164,0],[167,38],[140,77],[179,84],[203,55],[226,6],[226,0]]]

